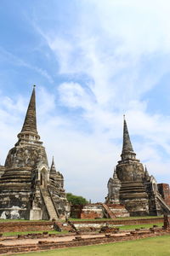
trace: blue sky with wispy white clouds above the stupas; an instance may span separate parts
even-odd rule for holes
[[[65,190],[105,201],[122,153],[170,183],[169,0],[1,0],[0,163],[36,84],[37,129]]]

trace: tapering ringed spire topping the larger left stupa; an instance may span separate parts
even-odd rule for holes
[[[36,85],[33,86],[30,103],[27,108],[26,118],[24,121],[24,125],[22,126],[23,131],[33,132],[37,134],[37,118],[36,118]]]

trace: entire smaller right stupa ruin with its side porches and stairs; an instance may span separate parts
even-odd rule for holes
[[[166,184],[168,186],[168,184]],[[170,194],[156,183],[146,167],[136,159],[124,119],[121,160],[108,182],[106,204],[122,204],[131,216],[160,215],[170,212]],[[167,187],[166,187],[167,188]],[[168,194],[168,195],[167,195]]]

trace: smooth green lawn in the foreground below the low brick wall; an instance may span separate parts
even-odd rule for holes
[[[38,253],[14,254],[35,256],[169,256],[170,236],[144,238],[136,241],[122,241],[97,246],[72,247]]]

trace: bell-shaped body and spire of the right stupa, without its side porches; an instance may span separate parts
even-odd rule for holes
[[[136,159],[129,137],[127,122],[123,120],[121,160],[116,165],[116,175],[121,183],[119,200],[131,216],[149,214],[148,195],[144,189],[144,166]]]

